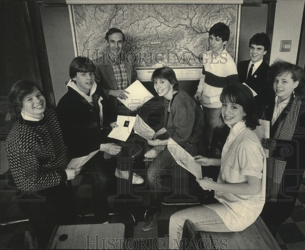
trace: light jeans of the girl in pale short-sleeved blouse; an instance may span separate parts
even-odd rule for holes
[[[219,203],[219,206],[224,205]],[[187,219],[191,221],[192,229],[194,231],[231,232],[220,216],[212,209],[207,208],[206,206],[186,208],[175,212],[170,216],[169,249],[179,248],[183,225]]]

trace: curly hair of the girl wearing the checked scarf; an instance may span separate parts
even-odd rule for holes
[[[289,63],[283,60],[276,60],[268,71],[268,80],[273,82],[274,78],[284,73],[291,73],[291,78],[294,82],[299,81],[299,85],[294,89],[297,96],[305,95],[305,72],[296,64]]]

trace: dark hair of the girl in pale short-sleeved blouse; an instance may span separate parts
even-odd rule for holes
[[[254,97],[251,90],[242,84],[234,84],[226,86],[222,89],[220,95],[221,102],[231,102],[242,106],[245,111],[245,123],[246,127],[251,130],[255,129],[256,126],[260,125],[257,114],[254,107]],[[223,120],[222,115],[220,115]]]

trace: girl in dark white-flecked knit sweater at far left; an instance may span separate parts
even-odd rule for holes
[[[66,152],[56,113],[45,108],[45,98],[34,82],[16,82],[10,101],[21,107],[5,141],[6,156],[20,190],[20,210],[32,223],[38,248],[45,248],[53,227],[71,223],[74,217],[72,194],[66,180],[74,179],[81,168],[66,165]]]

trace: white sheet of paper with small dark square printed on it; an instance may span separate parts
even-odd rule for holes
[[[114,128],[108,135],[110,138],[126,141],[135,124],[135,116],[117,116],[118,127]]]

